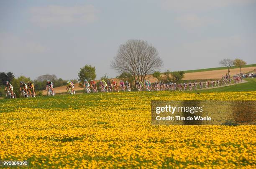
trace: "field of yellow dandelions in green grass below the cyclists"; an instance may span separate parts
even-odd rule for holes
[[[151,100],[256,92],[130,92],[0,102],[0,160],[40,168],[256,168],[255,126],[154,126]]]

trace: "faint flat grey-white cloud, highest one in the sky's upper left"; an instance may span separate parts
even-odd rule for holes
[[[98,19],[98,10],[93,5],[31,7],[31,21],[40,26],[87,24]]]

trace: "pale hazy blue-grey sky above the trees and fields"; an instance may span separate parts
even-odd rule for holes
[[[80,67],[115,77],[120,44],[146,40],[161,71],[256,62],[256,0],[1,0],[0,72],[75,79]]]

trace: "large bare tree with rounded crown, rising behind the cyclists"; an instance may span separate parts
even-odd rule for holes
[[[111,67],[119,73],[131,73],[134,80],[144,81],[146,75],[163,65],[155,47],[143,40],[128,40],[120,45]]]

